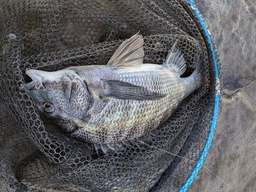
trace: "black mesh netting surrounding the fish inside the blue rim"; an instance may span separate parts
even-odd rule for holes
[[[2,0],[0,4],[0,191],[178,191],[203,150],[216,94],[207,38],[186,0]],[[26,69],[105,65],[124,39],[144,39],[144,62],[162,64],[177,42],[188,76],[204,81],[152,133],[122,150],[62,133],[38,115]],[[219,65],[219,63],[218,63]],[[181,158],[175,156],[185,157]]]

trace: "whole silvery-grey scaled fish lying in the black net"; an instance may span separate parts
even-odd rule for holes
[[[155,130],[202,82],[201,60],[188,77],[176,44],[162,65],[143,63],[143,38],[126,39],[106,65],[47,72],[29,69],[24,88],[37,111],[77,140],[113,144]]]

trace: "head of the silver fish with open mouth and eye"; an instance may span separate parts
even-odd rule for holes
[[[24,88],[33,98],[40,114],[61,122],[58,123],[60,125],[82,121],[91,99],[84,82],[72,71],[28,70],[26,73],[32,82],[25,84]]]

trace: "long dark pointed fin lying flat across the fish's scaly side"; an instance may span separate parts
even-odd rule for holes
[[[99,94],[102,97],[132,100],[156,100],[163,98],[164,94],[148,91],[146,88],[136,86],[129,82],[118,80],[103,80],[104,91]]]

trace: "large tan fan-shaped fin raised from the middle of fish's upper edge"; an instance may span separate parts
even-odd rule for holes
[[[144,57],[143,44],[141,35],[133,35],[122,42],[107,65],[124,69],[140,67]]]

